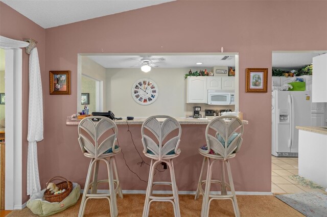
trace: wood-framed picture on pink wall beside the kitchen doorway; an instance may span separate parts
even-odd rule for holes
[[[246,93],[267,93],[268,68],[246,69]]]

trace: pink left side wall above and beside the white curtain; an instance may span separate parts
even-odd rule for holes
[[[44,71],[45,62],[45,30],[35,24],[30,19],[21,15],[4,3],[0,3],[0,35],[21,40],[23,38],[32,38],[37,41],[37,50],[39,55],[42,89],[44,83],[49,82],[49,75]],[[22,50],[22,203],[28,200],[27,196],[27,130],[28,130],[28,104],[29,104],[29,55]],[[44,97],[43,97],[44,98]],[[43,102],[44,103],[44,102]],[[10,120],[6,120],[10,121]],[[10,144],[6,144],[10,145]],[[38,155],[43,156],[45,153],[44,141],[38,143]],[[40,171],[43,170],[43,163],[39,164]]]

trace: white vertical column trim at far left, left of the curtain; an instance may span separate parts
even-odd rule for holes
[[[5,209],[22,204],[22,50],[6,49]]]

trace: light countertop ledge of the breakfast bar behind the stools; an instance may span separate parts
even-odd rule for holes
[[[146,118],[134,118],[134,120],[114,120],[116,125],[120,124],[143,124]],[[176,118],[180,124],[208,124],[212,119],[207,118]],[[81,120],[71,119],[66,120],[66,125],[78,125]],[[243,120],[243,124],[248,124],[248,121]]]

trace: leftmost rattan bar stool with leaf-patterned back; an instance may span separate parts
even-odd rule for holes
[[[92,119],[99,121],[93,121]],[[118,177],[118,170],[114,156],[121,152],[116,145],[118,129],[116,124],[109,118],[103,116],[90,116],[81,120],[78,125],[78,142],[85,157],[91,158],[88,167],[83,197],[78,216],[83,216],[87,200],[90,198],[106,198],[109,201],[110,216],[117,216],[118,209],[116,194],[123,198],[122,187]],[[98,180],[100,161],[107,166],[108,179]],[[115,174],[113,178],[112,167]],[[93,180],[90,182],[93,171]],[[97,194],[99,183],[109,183],[109,193]],[[116,187],[114,187],[114,185]],[[88,193],[91,188],[90,194]]]

